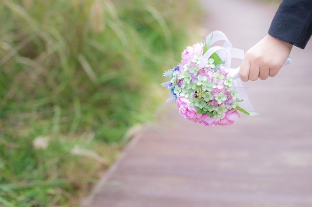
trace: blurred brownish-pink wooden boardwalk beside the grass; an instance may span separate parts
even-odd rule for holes
[[[221,30],[245,51],[276,11],[245,0],[203,6],[207,34]],[[291,56],[276,77],[244,84],[258,116],[205,127],[164,104],[82,206],[312,207],[312,41]]]

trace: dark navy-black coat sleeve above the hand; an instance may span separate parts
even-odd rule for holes
[[[269,35],[304,49],[312,35],[312,0],[283,0]]]

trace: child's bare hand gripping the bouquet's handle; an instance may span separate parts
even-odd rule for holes
[[[292,44],[265,36],[260,42],[246,52],[240,66],[239,77],[242,81],[255,81],[260,77],[265,80],[275,76],[289,57]]]

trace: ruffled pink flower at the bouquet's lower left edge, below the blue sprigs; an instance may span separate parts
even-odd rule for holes
[[[176,99],[176,105],[179,109],[179,113],[188,120],[197,122],[201,118],[202,114],[197,114],[197,108],[190,106],[190,101],[188,98],[180,96]]]

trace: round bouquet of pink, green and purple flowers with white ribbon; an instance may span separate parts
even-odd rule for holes
[[[218,40],[226,40],[223,47],[210,48],[210,44]],[[247,107],[253,109],[246,90],[235,86],[241,83],[237,82],[239,68],[230,68],[232,57],[242,59],[244,52],[232,48],[220,31],[208,35],[205,44],[188,46],[182,52],[181,62],[163,74],[172,78],[162,84],[172,93],[167,102],[176,102],[183,117],[205,126],[231,125],[239,119],[238,111],[256,115],[239,107],[238,102],[245,101]],[[240,99],[240,93],[243,93],[245,100]]]

